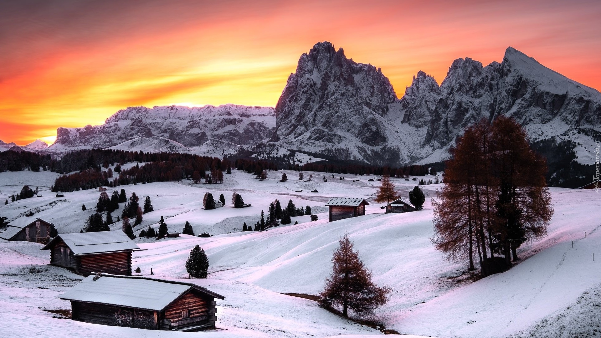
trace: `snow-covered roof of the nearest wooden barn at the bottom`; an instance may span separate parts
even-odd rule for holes
[[[147,277],[102,274],[89,275],[59,298],[71,301],[110,304],[151,311],[165,309],[178,297],[196,289],[215,298],[222,295],[191,283],[157,280]]]

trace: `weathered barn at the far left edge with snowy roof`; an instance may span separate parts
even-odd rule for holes
[[[0,229],[0,238],[7,241],[28,241],[46,244],[50,241],[54,225],[40,218],[19,217]]]

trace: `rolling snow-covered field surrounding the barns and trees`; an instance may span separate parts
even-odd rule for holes
[[[287,182],[278,182],[282,172]],[[371,176],[305,173],[297,180],[293,171],[269,172],[269,179],[234,171],[220,185],[190,185],[189,181],[125,186],[128,195],[150,195],[154,212],[144,215],[142,226],[164,216],[170,231],[181,231],[190,221],[196,233],[211,238],[183,236],[172,241],[142,240],[147,251],[134,253],[133,266],[147,275],[189,281],[185,260],[196,244],[209,255],[209,278],[194,280],[225,296],[218,301],[217,330],[202,333],[147,331],[86,324],[56,316],[46,310],[70,309],[56,296],[81,277],[47,266],[47,251],[39,244],[0,242],[0,336],[33,337],[60,333],[66,337],[340,337],[373,336],[379,330],[338,318],[317,303],[282,293],[317,294],[331,269],[338,238],[348,233],[374,280],[392,287],[391,300],[377,310],[374,320],[401,334],[436,337],[589,337],[601,334],[601,195],[595,191],[551,188],[555,215],[548,236],[523,245],[523,260],[503,274],[473,281],[463,264],[445,261],[429,241],[432,207],[407,214],[383,214],[382,204],[372,203],[367,215],[328,223],[324,204],[330,197],[370,198],[379,182]],[[59,232],[79,231],[93,211],[98,191],[66,193],[56,198],[49,187],[57,174],[49,172],[0,173],[0,197],[19,191],[23,184],[40,186],[42,197],[0,207],[10,220],[27,210],[54,223]],[[376,177],[373,177],[376,178]],[[421,177],[417,177],[419,180]],[[433,179],[432,176],[424,177]],[[355,179],[355,182],[353,182]],[[360,179],[360,180],[356,180]],[[417,181],[394,179],[407,198]],[[439,185],[424,186],[431,197]],[[118,189],[121,189],[119,187]],[[304,192],[294,192],[302,189]],[[319,192],[308,192],[317,189]],[[228,206],[204,210],[204,192],[223,193]],[[252,207],[229,206],[233,191]],[[111,192],[111,189],[108,191]],[[297,225],[266,232],[239,232],[242,223],[255,223],[261,210],[275,198],[319,211],[319,220],[293,218]],[[63,200],[63,201],[61,201]],[[88,210],[82,211],[81,204]],[[88,205],[89,204],[89,205]],[[121,207],[123,204],[121,204]],[[37,208],[37,209],[36,209]],[[115,212],[115,216],[118,212]],[[115,224],[113,230],[118,230]],[[233,233],[227,233],[233,232]],[[587,232],[587,238],[584,238]],[[573,248],[572,248],[573,242]],[[596,254],[593,261],[593,254]],[[33,267],[33,268],[32,268]],[[31,269],[31,271],[30,271]]]

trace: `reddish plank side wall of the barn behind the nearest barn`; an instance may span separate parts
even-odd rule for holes
[[[92,272],[132,275],[132,251],[90,254],[75,258],[79,260],[78,272],[84,276],[88,276]]]

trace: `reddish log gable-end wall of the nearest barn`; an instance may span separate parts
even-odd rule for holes
[[[183,310],[188,310],[188,318],[182,318]],[[161,328],[169,330],[167,326],[182,328],[203,324],[214,326],[217,319],[216,312],[216,302],[212,297],[191,290],[164,310]]]

